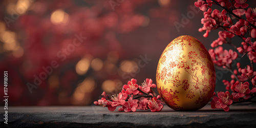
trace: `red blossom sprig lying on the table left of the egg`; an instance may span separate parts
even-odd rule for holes
[[[102,98],[95,101],[94,104],[108,107],[109,111],[114,111],[117,106],[121,106],[118,111],[124,112],[135,112],[137,109],[150,109],[151,112],[161,111],[163,102],[160,100],[160,95],[156,95],[152,90],[156,88],[156,84],[152,82],[152,79],[147,78],[139,86],[136,79],[131,79],[123,85],[122,91],[118,95],[110,97],[103,92]]]

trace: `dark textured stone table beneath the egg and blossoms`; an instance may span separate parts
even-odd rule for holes
[[[207,104],[195,112],[109,112],[100,106],[10,106],[8,124],[0,111],[0,127],[255,127],[256,104],[231,105],[229,112]]]

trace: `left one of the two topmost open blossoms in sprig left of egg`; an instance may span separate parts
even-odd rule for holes
[[[130,95],[130,94],[137,95],[139,93],[139,91],[137,90],[138,87],[139,86],[137,84],[137,80],[131,79],[131,81],[128,81],[128,83],[123,86],[123,89],[125,90],[125,93],[127,95]]]

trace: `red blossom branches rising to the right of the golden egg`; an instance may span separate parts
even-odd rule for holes
[[[223,10],[214,9],[212,5],[217,5]],[[231,80],[223,80],[226,92],[214,94],[211,101],[212,109],[224,109],[229,111],[232,103],[251,101],[256,96],[256,71],[253,68],[256,62],[256,8],[248,8],[246,0],[198,0],[195,6],[204,12],[201,20],[203,27],[200,32],[205,31],[204,37],[209,35],[211,30],[219,30],[218,39],[212,41],[209,54],[217,68],[231,72]],[[231,38],[238,36],[241,39],[241,46],[234,45]],[[232,49],[224,50],[222,45],[228,44]],[[237,62],[238,53],[247,55],[249,65],[241,67]],[[236,61],[234,61],[236,60]],[[232,67],[232,63],[237,64]],[[228,90],[232,91],[228,92]]]

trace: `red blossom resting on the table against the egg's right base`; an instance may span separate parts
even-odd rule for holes
[[[210,102],[212,109],[223,109],[224,111],[229,111],[229,106],[232,104],[232,100],[230,99],[230,93],[228,91],[219,92],[218,97],[215,96]]]

